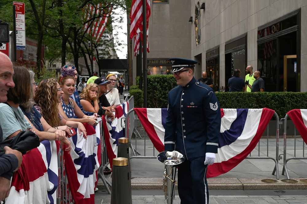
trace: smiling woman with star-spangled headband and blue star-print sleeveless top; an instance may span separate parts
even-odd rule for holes
[[[59,113],[65,120],[97,125],[96,113],[92,116],[85,115],[77,106],[76,102],[72,98],[69,98],[75,91],[74,71],[72,69],[62,70],[59,76],[58,83],[63,91],[61,103],[58,105]]]

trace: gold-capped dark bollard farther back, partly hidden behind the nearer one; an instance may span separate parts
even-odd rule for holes
[[[130,166],[130,148],[129,148],[129,138],[127,137],[120,137],[118,138],[118,147],[117,147],[117,156],[124,157],[128,159],[128,168],[129,168],[129,191],[131,194],[131,166]],[[132,204],[132,198],[130,201]]]

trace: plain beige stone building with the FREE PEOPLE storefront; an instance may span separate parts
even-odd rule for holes
[[[149,74],[169,74],[172,66],[169,58],[191,58],[190,5],[190,0],[150,1],[151,15],[148,25],[150,52],[147,53]],[[133,48],[134,42],[131,40],[128,44],[128,56],[132,59],[129,61],[132,73],[129,72],[129,76],[131,84],[135,85],[137,71]]]

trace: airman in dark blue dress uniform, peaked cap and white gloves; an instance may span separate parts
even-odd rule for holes
[[[179,86],[168,94],[165,151],[186,156],[178,165],[181,204],[209,202],[207,166],[215,161],[221,125],[220,104],[212,88],[194,77],[194,60],[171,58]]]

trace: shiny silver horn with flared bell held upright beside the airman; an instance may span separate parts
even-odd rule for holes
[[[177,151],[164,151],[157,155],[157,160],[165,164],[163,191],[167,204],[173,204],[177,165],[185,161],[185,156]]]

